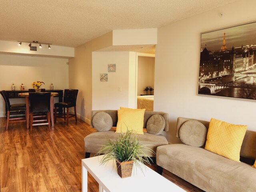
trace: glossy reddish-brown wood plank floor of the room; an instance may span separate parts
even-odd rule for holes
[[[9,124],[0,118],[0,192],[79,192],[84,137],[95,130],[74,118],[67,126],[57,119],[50,132],[47,126]],[[150,166],[156,170],[156,165]],[[192,184],[164,170],[163,176],[186,191],[202,192]],[[98,192],[98,183],[88,176],[88,191]],[[163,189],[160,191],[166,191]]]

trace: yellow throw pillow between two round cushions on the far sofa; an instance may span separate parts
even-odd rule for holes
[[[136,134],[143,134],[144,112],[145,109],[117,110],[116,133],[126,133],[127,130],[133,130]]]

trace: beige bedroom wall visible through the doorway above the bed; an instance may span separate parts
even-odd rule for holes
[[[143,92],[146,86],[152,86],[154,88],[154,73],[155,73],[155,58],[138,56],[137,95],[146,94],[145,92]]]

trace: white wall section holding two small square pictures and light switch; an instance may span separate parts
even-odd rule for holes
[[[108,72],[108,64],[116,64],[116,72]],[[92,53],[92,110],[128,107],[128,70],[129,52]],[[108,74],[107,82],[100,82],[101,73]]]

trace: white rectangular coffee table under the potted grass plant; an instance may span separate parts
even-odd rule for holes
[[[154,170],[144,166],[143,172],[133,167],[132,176],[120,178],[113,160],[100,165],[102,156],[82,159],[82,192],[87,192],[87,171],[99,184],[99,192],[184,192]],[[145,170],[146,168],[146,170]]]

